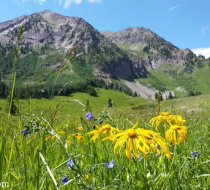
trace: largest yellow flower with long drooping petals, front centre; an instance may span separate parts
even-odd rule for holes
[[[163,152],[167,157],[171,158],[171,153],[167,148],[168,144],[164,142],[164,139],[159,135],[159,133],[142,128],[135,129],[138,124],[139,122],[137,122],[132,128],[119,132],[116,135],[106,137],[103,140],[116,140],[117,142],[114,146],[114,152],[119,146],[120,155],[123,144],[126,143],[125,153],[130,161],[132,161],[130,156],[132,151],[135,157],[139,158],[138,150],[143,153],[145,158],[147,158],[147,154],[150,152],[158,152],[158,154]],[[161,150],[158,149],[156,146],[157,144],[159,144]]]

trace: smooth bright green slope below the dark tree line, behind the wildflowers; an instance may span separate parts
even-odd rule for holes
[[[73,93],[70,96],[56,96],[52,99],[31,99],[30,103],[27,100],[20,100],[21,114],[26,114],[29,112],[29,105],[31,110],[34,109],[33,113],[40,115],[41,111],[44,111],[44,116],[49,116],[50,112],[56,109],[58,105],[58,116],[61,119],[79,119],[80,115],[84,116],[85,113],[81,112],[84,109],[79,103],[72,102],[71,100],[79,100],[83,104],[89,105],[93,114],[97,114],[102,109],[108,109],[110,111],[116,111],[120,114],[129,113],[132,110],[132,106],[139,104],[147,104],[149,101],[141,97],[131,97],[122,92],[117,92],[114,90],[106,89],[96,89],[98,97],[90,96],[87,93]],[[113,108],[108,108],[108,100],[112,100]],[[4,112],[6,101],[1,99],[1,111]]]

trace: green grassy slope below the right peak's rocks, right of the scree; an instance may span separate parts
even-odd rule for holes
[[[186,72],[192,69],[191,72]],[[160,91],[174,91],[176,96],[186,96],[189,92],[210,93],[210,61],[203,61],[203,66],[163,64],[157,70],[148,71],[147,77],[138,80]]]

